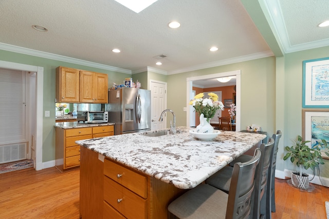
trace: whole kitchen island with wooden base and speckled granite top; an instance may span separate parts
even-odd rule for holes
[[[96,212],[104,218],[167,218],[171,201],[266,137],[224,131],[213,141],[198,141],[189,128],[178,129],[176,135],[131,133],[77,141],[82,146],[82,218]]]

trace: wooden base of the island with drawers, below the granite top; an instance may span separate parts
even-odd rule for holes
[[[168,205],[188,191],[100,157],[81,146],[81,218],[168,219]]]

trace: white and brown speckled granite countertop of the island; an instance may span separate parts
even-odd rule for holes
[[[130,133],[76,143],[177,188],[191,189],[266,137],[223,131],[213,141],[198,141],[189,128],[178,129],[182,133],[176,135]]]

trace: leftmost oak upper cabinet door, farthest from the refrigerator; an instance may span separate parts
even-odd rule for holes
[[[78,69],[56,69],[56,98],[58,103],[79,103],[80,73]]]

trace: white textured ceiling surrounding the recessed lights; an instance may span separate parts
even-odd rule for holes
[[[173,74],[328,46],[329,27],[317,27],[328,11],[327,0],[158,0],[140,13],[114,0],[1,0],[0,49]]]

